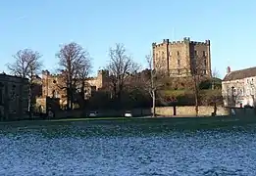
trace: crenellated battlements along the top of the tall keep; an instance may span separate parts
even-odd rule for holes
[[[152,43],[153,48],[163,47],[167,44],[169,45],[181,45],[181,44],[193,44],[193,45],[210,45],[210,40],[205,40],[204,42],[191,41],[189,37],[184,37],[180,41],[169,41],[169,39],[163,39],[162,43],[157,44],[156,42]]]

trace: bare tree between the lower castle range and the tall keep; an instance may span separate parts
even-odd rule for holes
[[[110,88],[114,99],[120,101],[128,78],[138,70],[139,66],[128,56],[123,44],[116,44],[115,48],[110,48],[109,57],[107,69],[110,73]]]

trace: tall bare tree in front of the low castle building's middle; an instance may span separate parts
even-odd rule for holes
[[[89,54],[75,42],[61,47],[56,54],[59,59],[60,69],[63,70],[65,86],[67,91],[67,108],[73,109],[74,93],[77,91],[77,83],[88,75],[91,64]]]

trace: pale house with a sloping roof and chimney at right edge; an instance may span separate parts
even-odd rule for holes
[[[226,107],[254,107],[256,87],[256,67],[230,70],[222,81],[222,94]]]

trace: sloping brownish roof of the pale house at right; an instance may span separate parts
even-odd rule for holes
[[[226,74],[223,81],[243,79],[243,78],[246,78],[246,77],[253,77],[253,76],[256,76],[256,66],[255,67],[249,67],[249,68],[246,68],[246,69],[230,71],[230,73]]]

